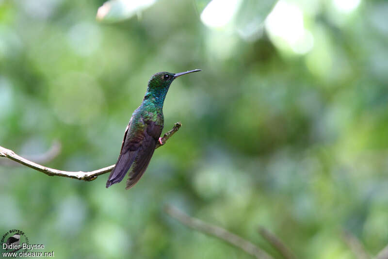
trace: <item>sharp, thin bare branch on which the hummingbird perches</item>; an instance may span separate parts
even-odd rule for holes
[[[180,128],[181,124],[179,122],[175,123],[174,127],[166,132],[163,137],[162,137],[162,143],[163,145],[166,143],[166,141],[171,138],[172,135],[174,135],[175,132],[178,131]],[[158,148],[162,146],[161,144],[158,143],[158,145],[155,148]],[[100,168],[98,170],[94,170],[91,172],[68,172],[68,171],[62,171],[62,170],[57,170],[53,168],[49,168],[40,164],[37,164],[35,162],[32,162],[28,159],[25,159],[19,155],[17,155],[14,151],[10,149],[6,149],[2,146],[0,146],[0,157],[6,157],[9,158],[15,162],[21,163],[23,165],[26,165],[28,167],[31,167],[32,169],[35,169],[39,172],[45,173],[46,175],[49,176],[62,176],[62,177],[67,177],[67,178],[74,178],[78,180],[85,180],[85,181],[91,181],[97,178],[99,175],[103,175],[105,173],[108,173],[113,170],[114,164],[110,165],[108,167]]]

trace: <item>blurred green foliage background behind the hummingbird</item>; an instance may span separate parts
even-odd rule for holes
[[[203,70],[172,84],[165,130],[183,126],[130,191],[106,189],[107,175],[81,182],[0,165],[0,232],[22,229],[57,258],[250,258],[169,218],[162,208],[173,204],[275,257],[259,225],[301,258],[352,258],[342,229],[381,250],[388,3],[341,14],[329,0],[289,2],[314,36],[303,55],[265,29],[238,33],[241,17],[262,21],[272,1],[242,1],[228,29],[201,22],[207,1],[160,0],[115,23],[96,21],[98,0],[0,1],[0,145],[28,155],[57,139],[62,153],[47,166],[114,163],[149,77]]]

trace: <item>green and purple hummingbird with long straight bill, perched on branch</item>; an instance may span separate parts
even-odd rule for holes
[[[146,95],[142,104],[132,113],[125,129],[120,155],[117,159],[106,188],[120,182],[127,174],[129,178],[125,189],[131,188],[142,177],[154,153],[156,143],[162,144],[163,103],[171,83],[178,77],[201,71],[194,69],[181,73],[159,72],[148,81]]]

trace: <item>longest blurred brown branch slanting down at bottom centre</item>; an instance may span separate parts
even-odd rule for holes
[[[203,222],[197,218],[192,218],[186,213],[178,210],[178,208],[167,205],[165,211],[171,217],[177,219],[180,223],[187,227],[191,227],[199,232],[208,234],[210,236],[217,237],[226,243],[232,244],[246,253],[258,258],[258,259],[273,259],[272,256],[267,254],[264,250],[259,248],[257,245],[227,231],[224,228],[211,225],[209,223]]]

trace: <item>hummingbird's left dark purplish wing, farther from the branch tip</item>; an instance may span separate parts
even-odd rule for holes
[[[127,129],[125,129],[123,143],[121,144],[120,155],[117,159],[116,165],[114,166],[111,174],[109,175],[108,181],[106,182],[106,188],[108,188],[112,184],[120,182],[125,177],[125,174],[128,172],[129,167],[136,158],[138,152],[137,146],[139,146],[139,143],[136,143],[136,141],[138,140],[129,138],[127,139],[130,122],[131,121],[129,121]]]

